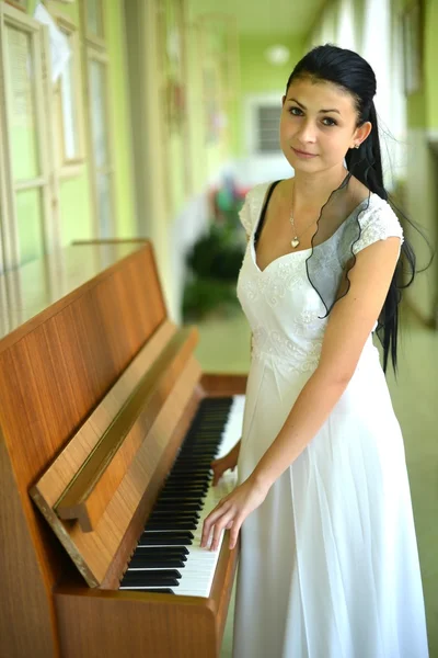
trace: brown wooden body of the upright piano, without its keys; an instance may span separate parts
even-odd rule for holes
[[[203,375],[147,240],[73,245],[2,275],[0,299],[0,657],[219,656],[228,536],[208,599],[117,588],[199,400],[245,377]]]

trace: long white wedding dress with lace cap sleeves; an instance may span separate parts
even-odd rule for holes
[[[267,184],[246,196],[238,296],[253,333],[239,481],[275,440],[318,366],[325,308],[310,250],[264,271],[254,230]],[[371,194],[355,251],[403,237]],[[324,243],[325,252],[336,235]],[[319,249],[316,247],[315,249]],[[376,327],[374,327],[376,328]],[[327,421],[241,529],[233,658],[426,658],[423,588],[403,438],[369,336]]]

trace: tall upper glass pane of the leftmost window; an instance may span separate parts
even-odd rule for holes
[[[12,175],[14,181],[20,181],[35,178],[41,173],[34,63],[28,34],[7,25],[5,35]]]

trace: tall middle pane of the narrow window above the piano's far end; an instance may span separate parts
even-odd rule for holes
[[[90,61],[91,82],[91,124],[93,131],[93,151],[97,168],[108,162],[107,125],[105,111],[106,71],[105,65],[92,59]]]

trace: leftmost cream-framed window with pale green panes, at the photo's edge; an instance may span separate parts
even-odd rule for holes
[[[59,245],[46,27],[0,2],[0,269]]]

